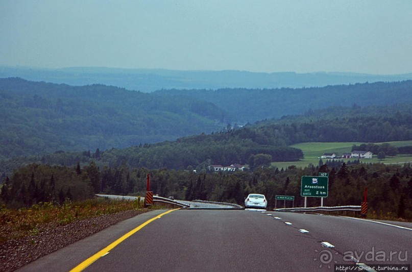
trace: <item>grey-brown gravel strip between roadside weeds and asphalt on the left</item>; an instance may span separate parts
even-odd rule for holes
[[[14,271],[64,246],[148,211],[130,210],[106,214],[77,220],[64,226],[49,224],[40,227],[36,235],[0,243],[0,271]]]

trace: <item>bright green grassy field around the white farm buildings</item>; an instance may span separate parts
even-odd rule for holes
[[[387,142],[393,146],[408,146],[412,145],[411,141],[399,141],[399,142]],[[307,143],[298,143],[291,145],[291,147],[296,147],[303,151],[304,159],[295,162],[273,162],[272,165],[275,167],[286,169],[290,165],[296,165],[297,167],[306,167],[309,164],[318,165],[320,157],[324,153],[335,153],[337,156],[341,156],[343,153],[350,153],[352,150],[352,145],[359,145],[361,142],[307,142]],[[381,143],[376,143],[381,144]],[[345,159],[344,161],[353,160]],[[323,159],[325,163],[327,159]],[[396,156],[396,157],[386,157],[384,160],[378,160],[376,154],[374,154],[372,159],[361,159],[363,163],[404,163],[412,162],[412,154],[409,156]]]

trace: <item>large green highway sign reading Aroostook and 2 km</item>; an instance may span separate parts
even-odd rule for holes
[[[328,177],[302,176],[301,196],[328,197]]]

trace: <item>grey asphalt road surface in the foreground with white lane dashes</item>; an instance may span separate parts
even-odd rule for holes
[[[398,228],[347,217],[253,210],[175,210],[158,218],[162,212],[138,215],[21,270],[75,268],[153,217],[87,263],[85,271],[332,271],[334,264],[355,264],[352,257],[370,266],[412,262],[410,223]]]

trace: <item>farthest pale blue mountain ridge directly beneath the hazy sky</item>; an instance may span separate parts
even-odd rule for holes
[[[141,92],[161,89],[221,89],[221,88],[303,88],[365,82],[411,80],[404,75],[368,75],[352,72],[249,72],[238,70],[166,70],[124,69],[106,67],[67,67],[42,69],[0,66],[0,78],[19,77],[30,81],[84,86],[104,84]]]

